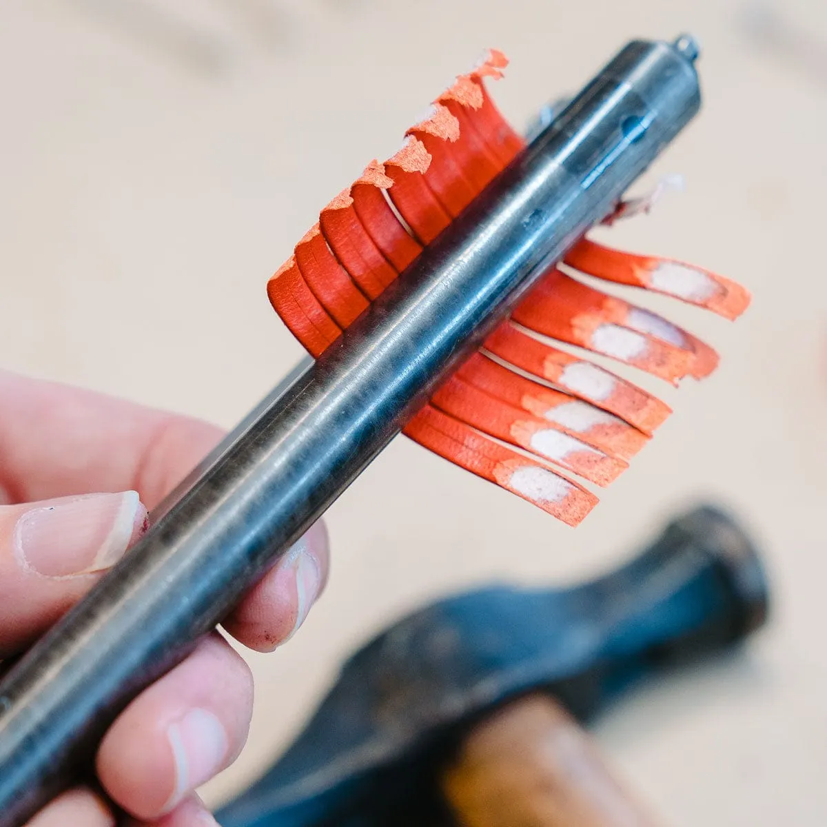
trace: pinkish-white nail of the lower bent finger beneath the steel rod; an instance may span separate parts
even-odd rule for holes
[[[170,810],[222,768],[229,742],[221,721],[201,709],[189,710],[184,718],[170,724],[166,735],[175,762],[175,790],[165,807]]]

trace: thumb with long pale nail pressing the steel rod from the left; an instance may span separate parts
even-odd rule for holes
[[[44,633],[145,528],[136,491],[0,507],[0,658]]]

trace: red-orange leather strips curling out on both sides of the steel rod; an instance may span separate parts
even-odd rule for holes
[[[323,209],[270,279],[276,312],[319,356],[523,149],[485,79],[507,61],[490,50],[442,93],[384,163],[372,161]],[[619,208],[616,213],[623,213]],[[564,265],[669,294],[726,318],[749,296],[708,270],[581,240]],[[404,276],[403,276],[404,277]],[[549,270],[404,433],[570,525],[596,503],[554,465],[608,485],[671,413],[660,399],[553,339],[677,383],[715,369],[709,346],[666,319]],[[552,465],[553,464],[553,465]]]

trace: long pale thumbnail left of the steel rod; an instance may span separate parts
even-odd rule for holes
[[[123,557],[145,521],[146,509],[137,491],[55,500],[17,520],[17,562],[44,577],[103,571]]]

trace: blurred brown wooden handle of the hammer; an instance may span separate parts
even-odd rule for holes
[[[552,698],[497,710],[442,776],[462,827],[654,827],[594,743]]]

